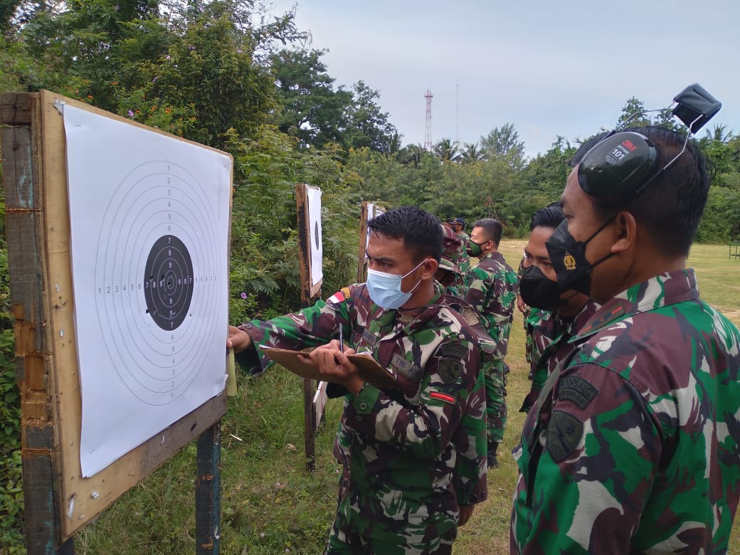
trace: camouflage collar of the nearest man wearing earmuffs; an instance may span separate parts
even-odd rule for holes
[[[625,289],[604,303],[568,343],[574,343],[583,337],[593,335],[600,329],[635,314],[698,298],[699,287],[696,285],[693,268],[650,277],[649,280]],[[590,303],[586,306],[588,304]]]

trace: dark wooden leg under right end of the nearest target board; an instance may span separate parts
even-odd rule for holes
[[[221,533],[221,422],[198,437],[195,554],[218,555]]]

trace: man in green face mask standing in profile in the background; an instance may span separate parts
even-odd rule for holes
[[[517,272],[500,252],[502,227],[499,221],[484,218],[473,224],[468,254],[480,258],[468,274],[465,301],[480,315],[485,329],[496,343],[496,352],[483,364],[486,417],[488,419],[488,468],[498,466],[497,450],[506,425],[506,373],[504,357],[508,349],[514,303],[517,300]]]

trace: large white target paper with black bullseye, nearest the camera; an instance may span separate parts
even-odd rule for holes
[[[232,164],[69,105],[64,131],[89,477],[223,391]]]

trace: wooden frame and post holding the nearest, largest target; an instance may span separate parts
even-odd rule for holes
[[[198,437],[197,552],[211,553],[214,547],[218,552],[225,391],[92,477],[81,475],[67,158],[63,119],[55,107],[60,101],[132,124],[49,91],[7,93],[0,101],[0,121],[8,126],[1,138],[28,552],[70,545],[75,531]]]

